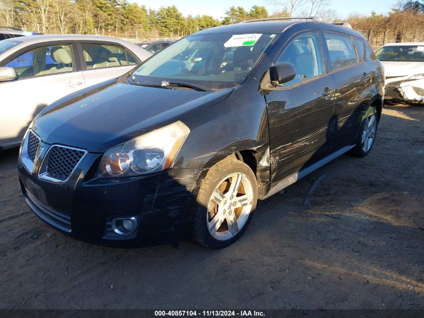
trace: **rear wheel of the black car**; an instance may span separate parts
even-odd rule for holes
[[[372,121],[372,123],[371,123]],[[374,106],[370,106],[362,120],[361,129],[356,137],[355,147],[349,151],[349,154],[355,157],[365,157],[372,149],[377,136],[378,115]],[[368,127],[368,130],[366,129]],[[373,136],[373,137],[370,137]],[[365,144],[365,142],[368,142]],[[369,144],[371,143],[371,144]]]

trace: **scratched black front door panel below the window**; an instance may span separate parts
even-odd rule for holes
[[[330,133],[333,99],[323,97],[322,93],[325,87],[332,86],[331,77],[326,75],[295,87],[265,93],[272,182],[299,171],[312,156],[317,161],[328,153],[322,146]]]

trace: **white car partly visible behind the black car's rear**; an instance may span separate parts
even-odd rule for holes
[[[424,42],[389,43],[375,54],[386,74],[385,100],[424,102]]]

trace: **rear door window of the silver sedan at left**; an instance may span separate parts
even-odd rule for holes
[[[81,44],[87,69],[128,65],[125,51],[116,45]]]

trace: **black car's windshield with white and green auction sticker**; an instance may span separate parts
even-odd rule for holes
[[[168,46],[133,72],[139,84],[186,82],[228,88],[243,82],[275,34],[191,35]]]

